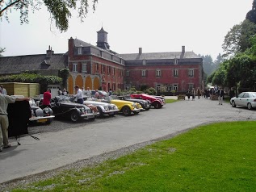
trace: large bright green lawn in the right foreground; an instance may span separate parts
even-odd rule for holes
[[[213,123],[14,191],[256,190],[256,122]]]

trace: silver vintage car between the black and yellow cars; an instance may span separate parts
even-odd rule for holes
[[[99,111],[99,116],[103,117],[104,115],[115,116],[115,114],[119,111],[118,107],[115,104],[107,103],[107,102],[96,102],[88,98],[83,102],[85,105],[93,105],[96,106]]]

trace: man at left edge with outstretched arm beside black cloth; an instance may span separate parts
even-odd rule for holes
[[[15,101],[29,101],[30,98],[15,98],[9,95],[0,94],[0,152],[2,148],[10,148],[8,141],[8,113],[7,107],[9,103],[15,103]]]

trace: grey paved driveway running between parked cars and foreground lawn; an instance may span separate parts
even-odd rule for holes
[[[106,121],[79,123],[76,128],[35,134],[21,138],[21,145],[10,140],[12,148],[0,152],[0,183],[75,161],[98,156],[133,144],[156,140],[202,123],[256,119],[256,111],[222,106],[204,98],[166,104],[139,115],[117,115]],[[51,126],[51,125],[50,125]]]

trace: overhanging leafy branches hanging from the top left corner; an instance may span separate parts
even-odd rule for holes
[[[0,0],[0,19],[4,17],[8,21],[8,14],[11,10],[19,10],[20,23],[28,23],[29,11],[35,12],[45,5],[51,14],[50,20],[55,21],[60,31],[67,31],[72,10],[78,11],[78,17],[82,22],[88,13],[89,1],[92,2],[93,10],[95,10],[98,0]]]

